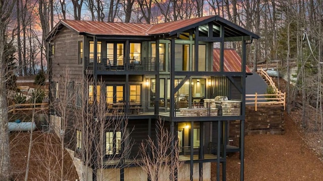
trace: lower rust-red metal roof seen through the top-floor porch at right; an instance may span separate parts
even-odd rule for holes
[[[224,49],[224,72],[241,72],[241,57],[234,49]],[[213,49],[213,71],[220,72],[220,48]],[[251,73],[246,66],[246,73]]]

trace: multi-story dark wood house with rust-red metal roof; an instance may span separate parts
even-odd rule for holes
[[[126,131],[124,124],[110,126],[95,137],[102,139],[97,144],[101,143],[99,153],[104,157],[96,154],[90,159],[102,158],[99,164],[106,169],[118,167],[113,172],[116,180],[147,180],[137,164],[126,163],[137,156],[142,141],[156,138],[158,119],[178,141],[172,143],[178,143],[180,160],[186,163],[178,171],[179,179],[186,175],[185,180],[210,180],[210,163],[218,163],[212,171],[225,172],[227,153],[238,151],[243,180],[246,46],[258,38],[219,16],[155,25],[61,20],[47,37],[51,47],[50,121],[59,127],[69,125],[67,129],[72,128],[71,122],[78,123],[75,132],[61,132],[66,142],[71,142],[68,148],[74,157],[82,159],[84,155],[78,152],[86,150],[82,143],[89,136],[81,129],[86,123],[78,116],[90,115],[90,123],[95,123],[99,115],[92,114],[93,109],[104,107],[106,119],[127,119]],[[240,68],[227,68],[233,65],[224,61],[225,44],[232,41],[241,44]],[[220,47],[217,53],[213,53],[214,45]],[[216,56],[219,64],[213,62]],[[57,80],[64,77],[65,68],[69,68],[70,77],[62,85]],[[93,83],[87,85],[84,78]],[[104,85],[95,85],[101,81]],[[55,102],[65,89],[75,90],[76,96],[67,102],[70,109],[63,114]],[[214,99],[217,96],[220,99]],[[72,113],[74,109],[82,114]],[[233,121],[240,128],[236,147],[228,140]],[[120,142],[125,134],[133,143],[130,151],[125,149],[130,141]],[[125,159],[111,161],[125,151],[129,151]],[[106,159],[109,161],[104,162]],[[84,160],[80,164],[89,166],[92,176],[98,175],[94,164]]]

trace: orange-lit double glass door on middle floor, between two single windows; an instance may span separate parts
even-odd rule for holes
[[[124,86],[123,85],[109,85],[106,86],[106,103],[122,102],[124,101]]]

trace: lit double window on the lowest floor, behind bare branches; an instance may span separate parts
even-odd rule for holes
[[[105,155],[115,155],[121,152],[121,132],[105,133]]]

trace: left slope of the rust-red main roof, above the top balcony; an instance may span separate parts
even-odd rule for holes
[[[61,22],[79,33],[91,35],[147,36],[145,32],[152,26],[150,24],[77,20],[61,20]]]

